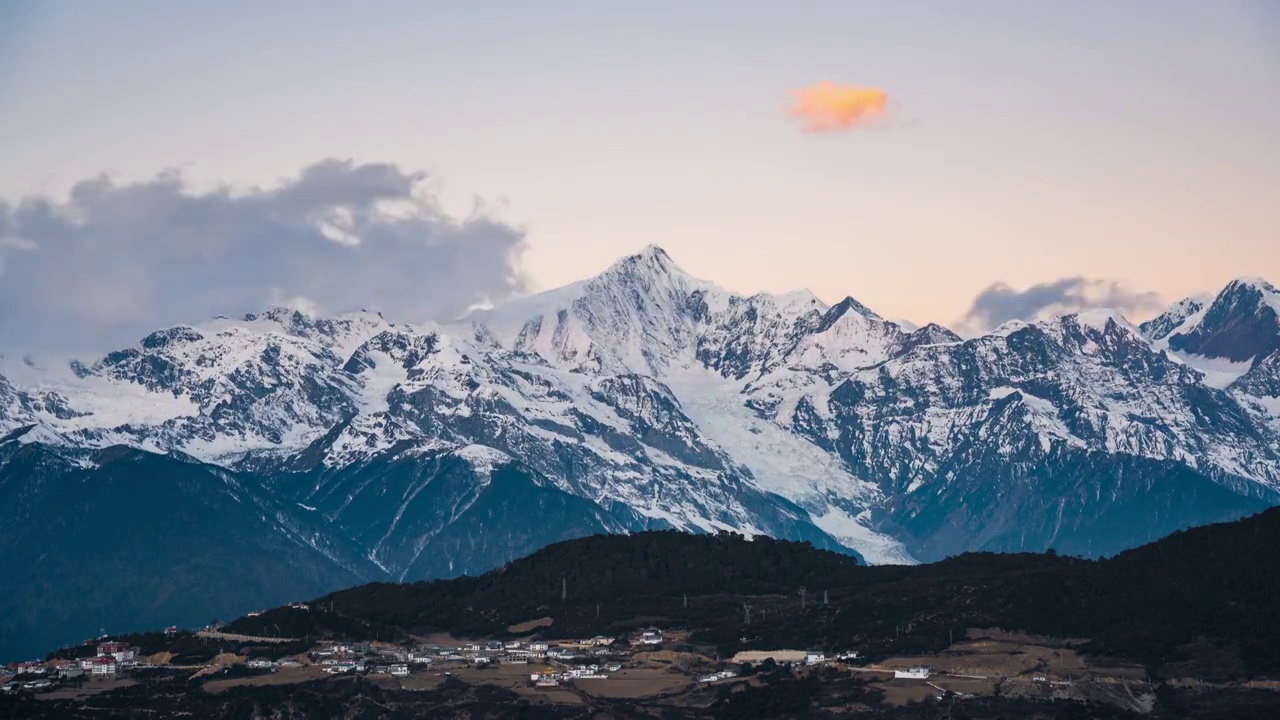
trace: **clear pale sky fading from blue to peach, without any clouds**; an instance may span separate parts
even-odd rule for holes
[[[820,81],[890,113],[805,135]],[[0,0],[0,197],[389,163],[522,225],[535,288],[649,243],[915,323],[997,282],[1280,282],[1277,128],[1270,0]]]

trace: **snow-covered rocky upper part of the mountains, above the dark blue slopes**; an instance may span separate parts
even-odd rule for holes
[[[1005,493],[991,507],[1038,509],[1056,498],[1037,493],[1065,492],[1037,484],[1061,468],[1091,468],[1098,486],[1070,497],[1101,498],[1124,480],[1094,470],[1106,459],[1280,492],[1277,307],[1274,287],[1242,279],[1140,328],[1093,310],[961,340],[852,297],[736,295],[648,247],[452,324],[271,309],[91,364],[10,359],[0,437],[35,427],[45,443],[301,469],[321,495],[365,487],[379,462],[453,454],[486,474],[509,461],[618,528],[835,538],[911,562],[942,552],[931,542],[969,547],[943,530],[922,541],[922,519],[983,536],[995,520],[966,512],[988,486]]]

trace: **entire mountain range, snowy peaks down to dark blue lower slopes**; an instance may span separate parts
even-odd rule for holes
[[[271,309],[9,363],[0,493],[0,657],[599,533],[1105,556],[1280,503],[1280,291],[961,338],[649,247],[452,323]]]

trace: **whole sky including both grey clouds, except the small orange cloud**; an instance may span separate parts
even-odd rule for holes
[[[886,110],[805,132],[822,82]],[[1149,315],[1280,282],[1276,128],[1268,0],[0,0],[0,346],[650,243],[918,324]]]

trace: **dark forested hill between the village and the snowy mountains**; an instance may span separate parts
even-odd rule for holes
[[[868,568],[806,543],[650,532],[557,543],[479,578],[367,584],[232,628],[392,639],[504,634],[550,618],[557,635],[657,624],[724,650],[813,644],[874,656],[941,650],[966,628],[1001,626],[1088,638],[1087,652],[1157,675],[1266,675],[1280,673],[1277,560],[1280,509],[1096,561],[966,553]]]

